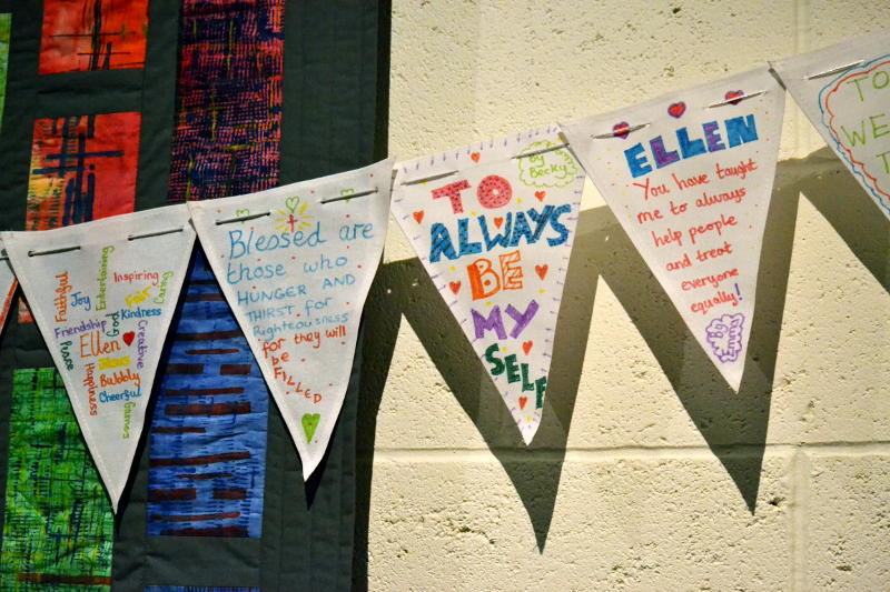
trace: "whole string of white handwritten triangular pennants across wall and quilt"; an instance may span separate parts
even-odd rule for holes
[[[890,219],[890,32],[771,66],[409,161],[2,232],[0,322],[18,282],[117,510],[197,238],[308,479],[392,210],[530,443],[587,175],[738,391],[785,89]]]

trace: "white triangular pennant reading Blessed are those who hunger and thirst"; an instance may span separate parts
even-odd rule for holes
[[[258,193],[189,202],[222,293],[303,463],[322,462],[380,262],[393,161]]]

